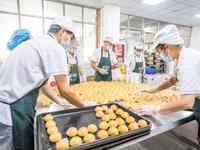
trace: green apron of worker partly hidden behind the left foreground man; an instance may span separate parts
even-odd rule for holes
[[[66,52],[67,53],[67,52]],[[75,57],[76,59],[76,64],[73,64],[70,67],[70,72],[69,72],[69,76],[70,76],[70,85],[74,85],[74,84],[79,84],[80,83],[80,77],[79,77],[79,71],[78,71],[78,61],[77,61],[77,57]],[[69,64],[68,58],[67,58],[67,64]]]

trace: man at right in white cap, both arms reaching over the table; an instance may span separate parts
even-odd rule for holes
[[[140,115],[168,114],[193,108],[200,138],[200,52],[181,46],[183,43],[175,25],[168,25],[156,33],[154,45],[149,51],[156,49],[164,61],[174,61],[174,74],[160,86],[143,91],[156,93],[179,82],[181,98],[162,106],[143,106],[136,112]]]

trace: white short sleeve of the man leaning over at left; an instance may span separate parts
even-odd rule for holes
[[[63,49],[54,49],[42,58],[47,76],[68,74],[67,58]]]

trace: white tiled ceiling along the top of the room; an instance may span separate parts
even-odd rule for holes
[[[119,6],[121,13],[185,26],[199,26],[200,0],[165,0],[157,5],[143,0],[59,0],[75,5],[102,8],[106,4]]]

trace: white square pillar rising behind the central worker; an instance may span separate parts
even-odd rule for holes
[[[119,42],[120,7],[105,5],[100,10],[100,45],[105,36],[111,35],[114,41]]]

